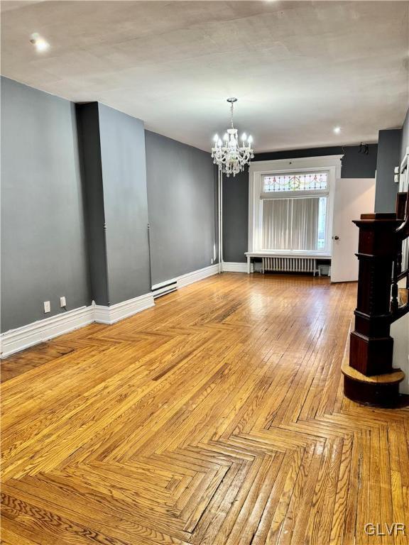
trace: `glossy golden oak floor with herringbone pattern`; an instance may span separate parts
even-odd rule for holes
[[[223,274],[6,360],[2,543],[408,544],[364,533],[409,530],[409,412],[342,395],[355,290]]]

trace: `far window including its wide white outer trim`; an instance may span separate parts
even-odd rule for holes
[[[254,161],[247,255],[331,255],[342,155]]]

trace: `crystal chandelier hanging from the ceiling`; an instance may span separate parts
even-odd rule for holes
[[[246,133],[243,133],[241,145],[239,145],[237,129],[233,126],[233,104],[236,101],[237,99],[234,97],[227,99],[227,102],[230,103],[231,128],[227,129],[223,140],[217,135],[214,136],[214,147],[212,148],[213,163],[218,165],[219,170],[224,172],[227,177],[242,172],[254,157],[254,150],[251,148],[253,142],[251,136],[247,137]]]

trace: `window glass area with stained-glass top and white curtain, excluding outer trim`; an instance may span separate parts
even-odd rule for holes
[[[262,250],[322,252],[328,172],[263,175]]]

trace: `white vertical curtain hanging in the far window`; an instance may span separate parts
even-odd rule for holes
[[[263,199],[265,250],[317,250],[320,197]]]

